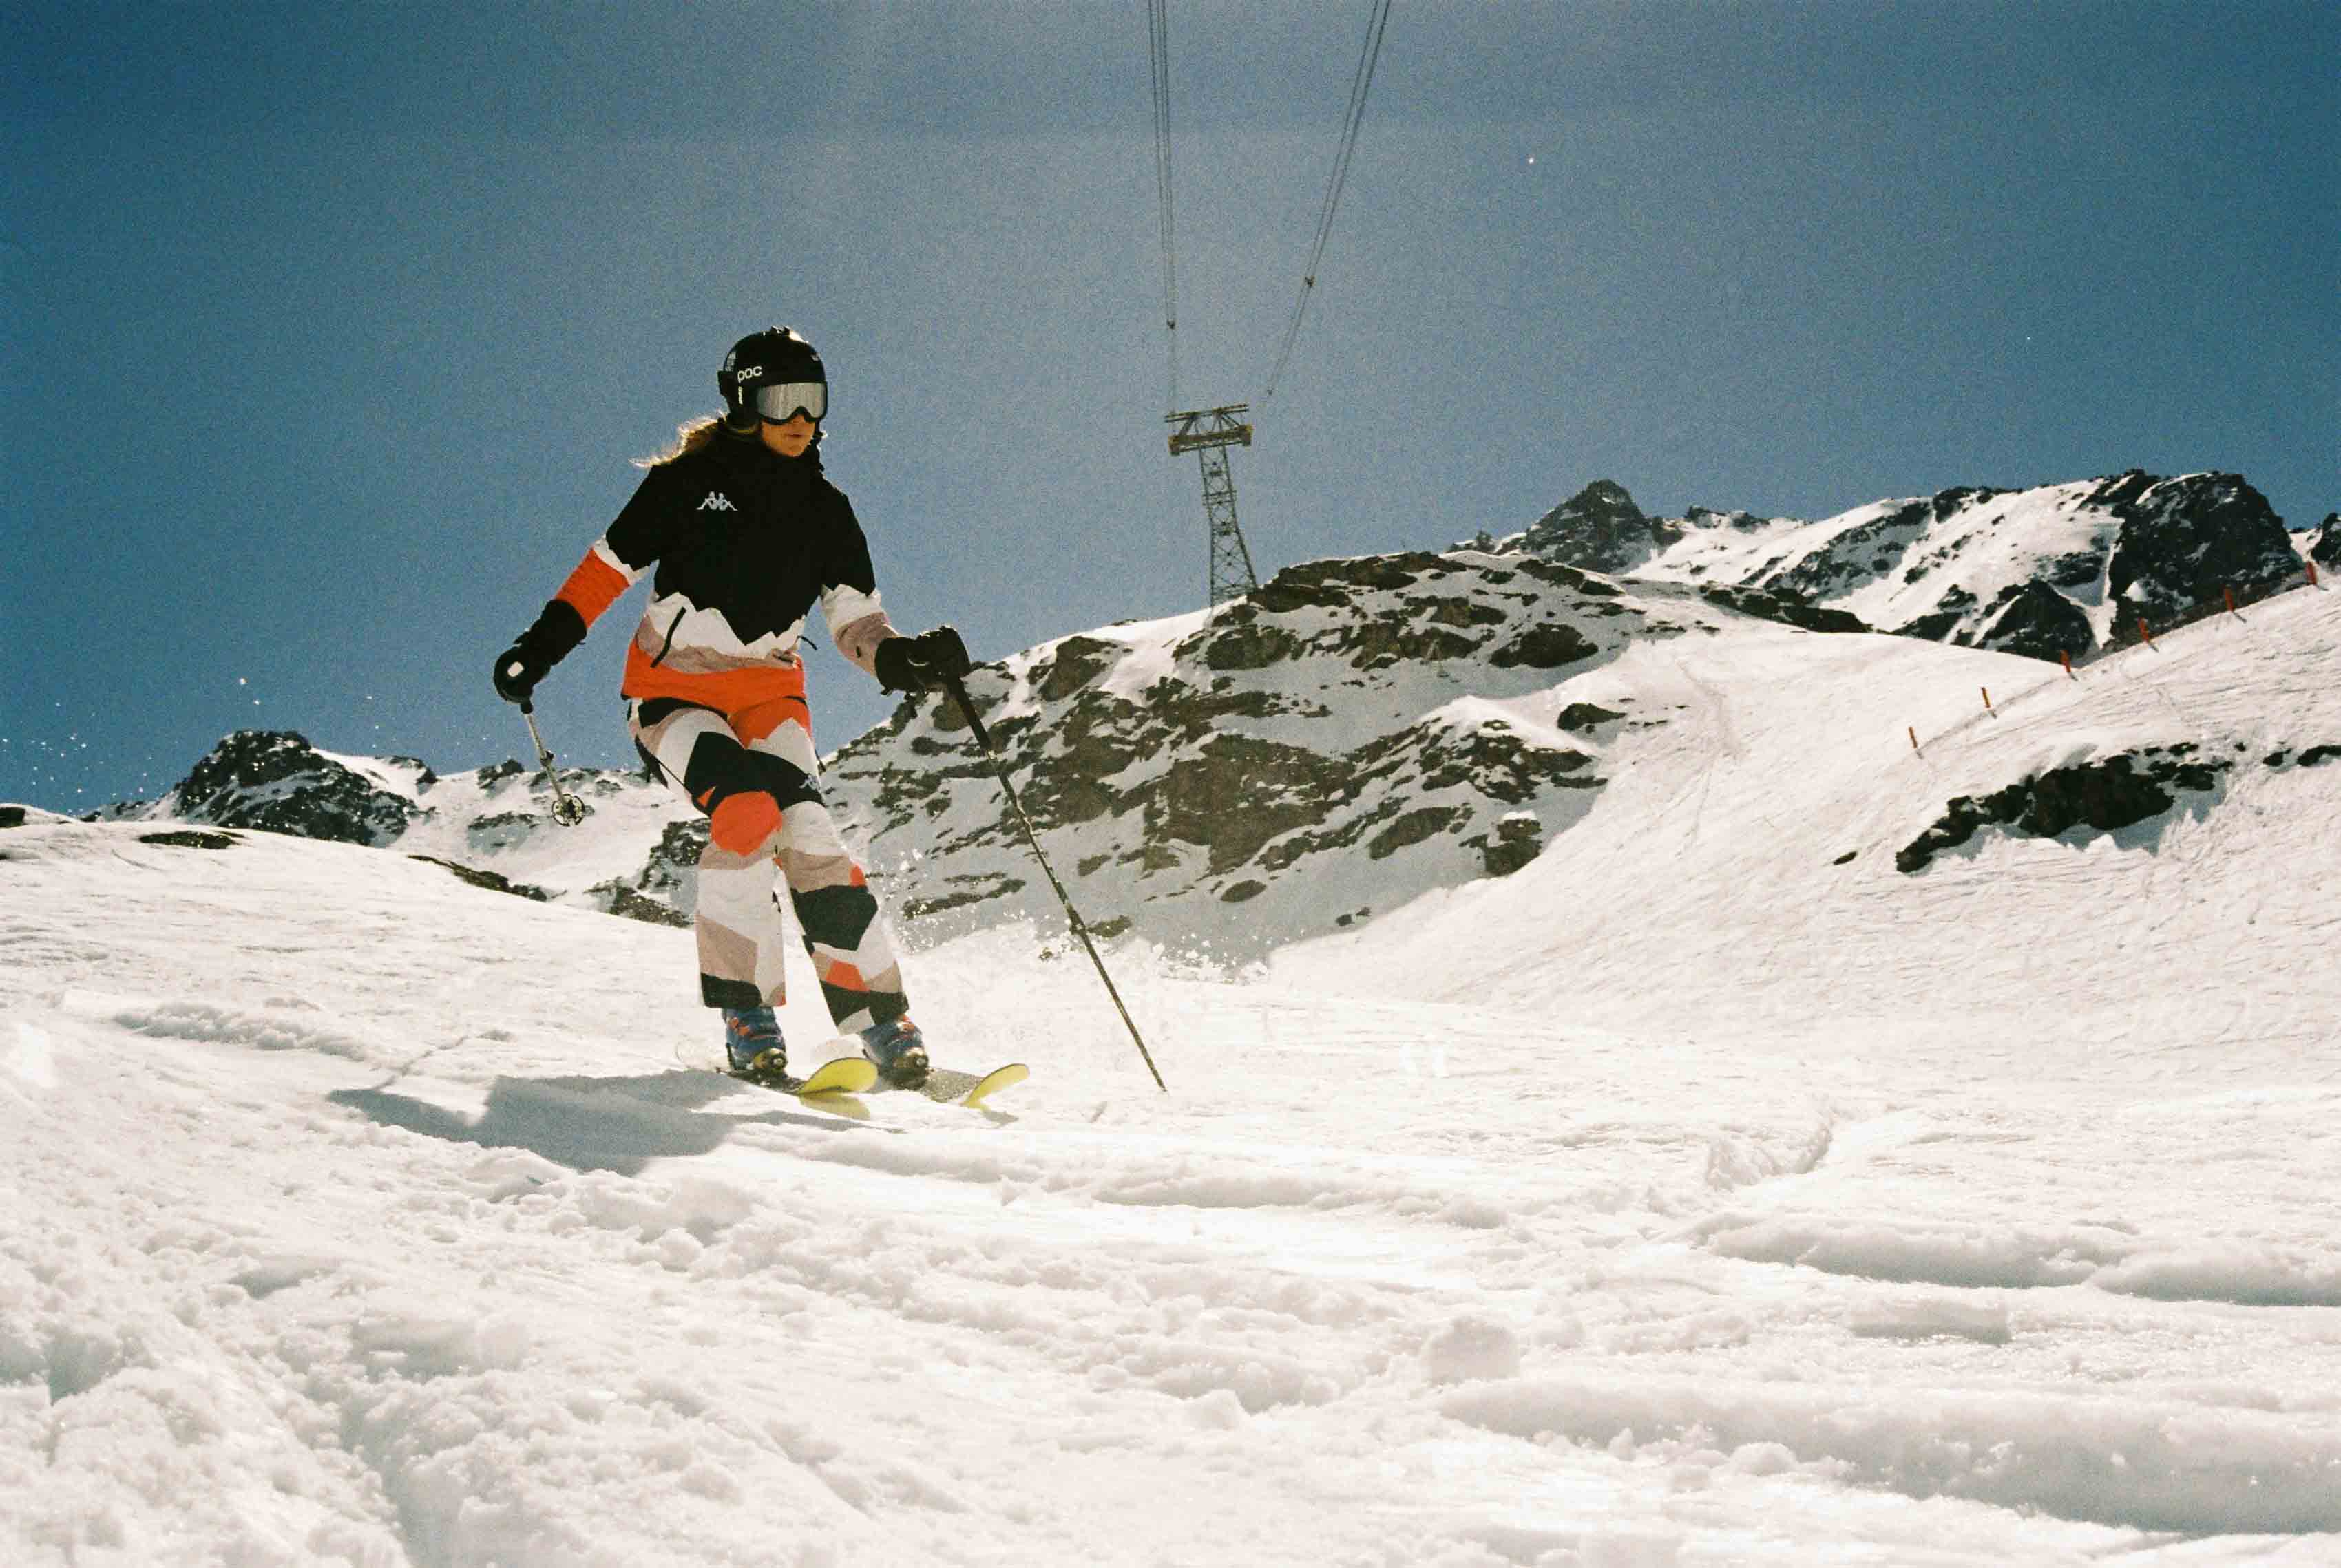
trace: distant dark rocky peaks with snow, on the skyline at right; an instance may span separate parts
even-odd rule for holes
[[[1763,587],[1882,632],[2044,660],[2301,578],[2282,520],[2233,473],[1945,489],[1821,522],[1704,508],[1646,517],[1604,480],[1510,543],[1634,578]]]

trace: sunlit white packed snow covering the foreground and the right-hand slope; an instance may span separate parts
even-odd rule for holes
[[[30,812],[0,1561],[2341,1561],[2336,632],[1636,648],[1526,871],[1114,948],[1168,1095],[1058,931],[913,955],[993,1114],[709,1072],[686,931]]]

